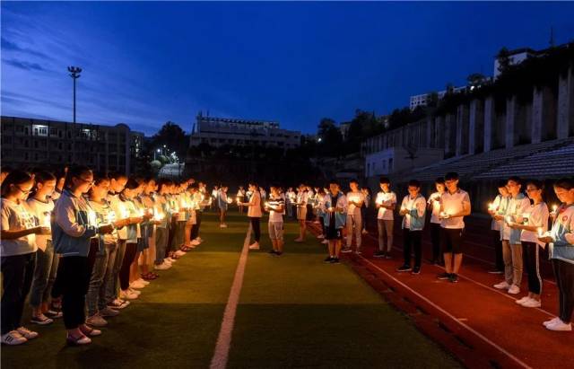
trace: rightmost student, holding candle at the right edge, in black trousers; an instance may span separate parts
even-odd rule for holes
[[[549,243],[556,286],[558,286],[560,311],[556,318],[544,321],[550,330],[572,330],[574,312],[574,180],[563,178],[554,183],[554,193],[561,201],[552,222],[552,230],[538,237]]]

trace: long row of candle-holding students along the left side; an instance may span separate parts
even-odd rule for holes
[[[61,180],[64,184],[64,180]],[[2,342],[38,333],[22,326],[63,318],[66,341],[83,345],[140,289],[202,242],[204,185],[110,177],[76,166],[65,185],[49,172],[11,171],[2,182]],[[31,193],[31,196],[30,196]],[[31,290],[31,292],[30,292]],[[87,310],[88,316],[85,316]]]

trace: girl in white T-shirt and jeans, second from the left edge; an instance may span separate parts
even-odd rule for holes
[[[51,216],[54,211],[52,194],[56,189],[56,177],[48,171],[35,173],[36,190],[28,199],[30,212],[36,218],[37,224],[51,229]],[[36,235],[36,269],[30,292],[30,306],[32,316],[30,322],[46,325],[53,322],[53,318],[62,317],[61,312],[52,312],[48,309],[48,300],[56,280],[58,257],[54,252],[52,235]],[[49,316],[48,316],[49,315]]]

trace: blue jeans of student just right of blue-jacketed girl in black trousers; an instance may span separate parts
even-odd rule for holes
[[[96,260],[91,269],[90,285],[86,294],[88,316],[106,308],[106,292],[114,288],[114,263],[116,261],[117,244],[106,243],[104,249],[96,254]],[[115,298],[115,295],[114,295]],[[113,298],[111,299],[113,300]]]

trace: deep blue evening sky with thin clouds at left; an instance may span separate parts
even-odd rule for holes
[[[2,114],[153,134],[199,110],[315,132],[574,39],[574,3],[2,2]]]

